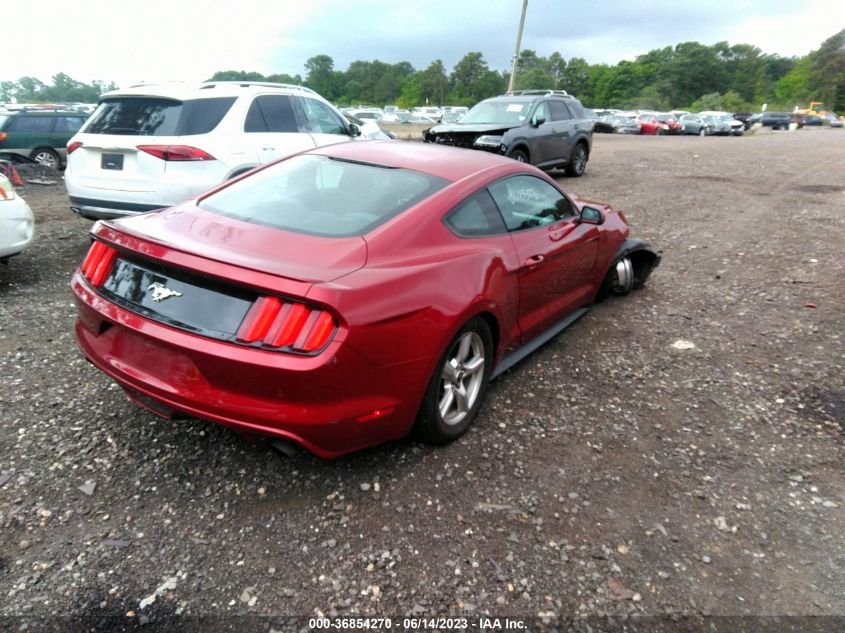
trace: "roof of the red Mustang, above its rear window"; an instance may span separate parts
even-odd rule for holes
[[[519,165],[510,158],[488,152],[433,143],[395,140],[337,143],[309,150],[306,153],[410,169],[452,182],[490,167],[510,165],[516,168]]]

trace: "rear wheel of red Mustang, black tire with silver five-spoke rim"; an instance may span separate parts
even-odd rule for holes
[[[465,341],[468,341],[468,354],[461,360],[461,344]],[[471,371],[469,365],[477,362],[479,356],[482,356],[482,366]],[[451,378],[447,376],[447,367],[457,370],[452,372]],[[430,444],[446,444],[466,433],[487,394],[492,371],[493,335],[484,319],[476,317],[455,334],[438,359],[420,405],[415,434]],[[456,396],[461,393],[456,391],[459,385],[463,390],[461,398]],[[465,405],[463,410],[460,402]]]

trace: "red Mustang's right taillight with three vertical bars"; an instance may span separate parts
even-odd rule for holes
[[[259,297],[252,304],[237,339],[242,343],[261,341],[266,347],[315,352],[329,342],[337,330],[331,313],[304,303]]]

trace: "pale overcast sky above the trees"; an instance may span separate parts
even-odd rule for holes
[[[304,76],[326,54],[447,69],[470,51],[504,70],[522,0],[18,0],[4,3],[0,80],[65,72],[129,85],[217,70]],[[804,55],[845,28],[843,0],[529,0],[522,48],[616,63],[696,40]]]

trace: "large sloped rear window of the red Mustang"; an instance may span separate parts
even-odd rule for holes
[[[199,207],[295,233],[363,235],[448,184],[406,169],[294,156],[203,198]]]

